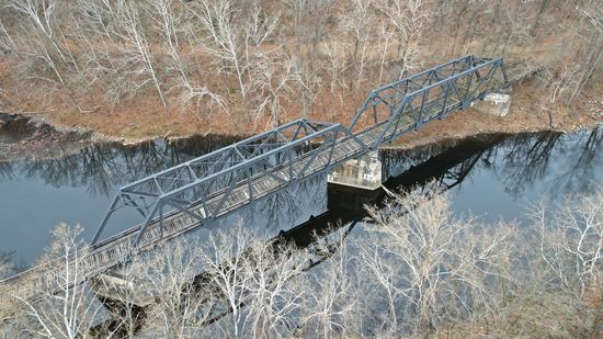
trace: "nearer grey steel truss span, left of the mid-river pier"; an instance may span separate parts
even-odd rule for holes
[[[120,189],[92,244],[122,207],[144,218],[133,245],[180,234],[350,158],[342,143],[367,150],[341,124],[297,120],[149,176]]]

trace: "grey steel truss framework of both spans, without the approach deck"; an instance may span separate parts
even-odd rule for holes
[[[321,171],[337,163],[333,149],[343,142],[356,144],[356,156],[376,150],[409,129],[442,118],[469,106],[489,92],[507,88],[509,79],[502,58],[464,56],[432,69],[398,80],[368,94],[350,127],[341,124],[296,120],[252,136],[196,159],[122,187],[106,212],[93,240],[96,245],[113,213],[133,207],[143,216],[134,245],[138,245],[149,225],[183,213],[200,224],[223,213],[235,188],[247,182],[248,202],[262,197],[253,188],[260,177],[278,181],[280,188],[305,178],[317,155],[329,149]],[[361,136],[378,132],[369,142]],[[366,139],[365,139],[366,140]],[[303,168],[293,165],[307,158]],[[219,197],[209,204],[209,200]],[[169,208],[169,211],[167,211]]]

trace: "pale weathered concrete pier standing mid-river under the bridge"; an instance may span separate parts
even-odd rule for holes
[[[343,162],[331,171],[327,181],[363,190],[376,190],[382,187],[382,162],[377,151],[372,151],[359,159]]]

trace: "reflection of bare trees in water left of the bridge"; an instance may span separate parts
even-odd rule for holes
[[[164,140],[136,146],[91,145],[61,158],[0,163],[0,177],[41,178],[53,187],[87,187],[92,195],[109,195],[115,187],[209,152],[234,138],[192,137],[173,143]]]

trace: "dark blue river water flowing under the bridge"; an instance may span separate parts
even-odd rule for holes
[[[35,261],[58,223],[80,224],[90,240],[117,187],[232,143],[196,137],[133,147],[94,145],[53,160],[0,162],[0,251],[14,261]],[[437,182],[450,192],[459,216],[485,222],[525,222],[525,208],[545,199],[603,184],[603,127],[569,135],[490,135],[444,142],[410,151],[384,150],[386,185],[396,189]],[[286,230],[328,210],[325,177],[315,177],[228,216],[218,227],[241,221],[271,231]],[[351,195],[331,197],[339,202]],[[343,201],[342,201],[343,200]],[[106,236],[134,225],[132,213],[117,214]]]

